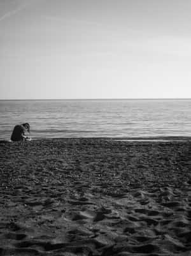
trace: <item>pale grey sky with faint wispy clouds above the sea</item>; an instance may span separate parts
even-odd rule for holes
[[[191,98],[191,1],[0,0],[0,99]]]

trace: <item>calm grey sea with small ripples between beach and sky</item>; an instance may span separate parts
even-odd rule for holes
[[[191,136],[191,100],[0,100],[0,139],[26,122],[32,139]]]

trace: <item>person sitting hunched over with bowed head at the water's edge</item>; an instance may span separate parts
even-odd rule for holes
[[[25,141],[25,140],[29,139],[25,135],[25,132],[30,133],[29,123],[16,125],[13,129],[13,132],[12,132],[12,135],[11,135],[11,140],[12,141]]]

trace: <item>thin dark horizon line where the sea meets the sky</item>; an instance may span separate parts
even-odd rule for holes
[[[0,101],[22,101],[22,100],[191,100],[191,98],[34,98],[34,99],[0,99]]]

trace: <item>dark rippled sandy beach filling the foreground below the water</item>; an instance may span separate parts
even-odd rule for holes
[[[0,255],[191,255],[191,142],[0,143]]]

